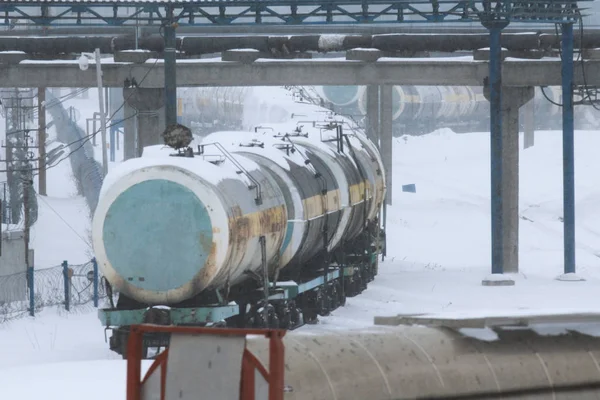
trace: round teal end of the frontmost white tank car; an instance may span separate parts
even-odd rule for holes
[[[204,268],[212,224],[191,190],[154,179],[115,199],[104,220],[103,240],[109,262],[126,282],[165,292],[190,282]]]

